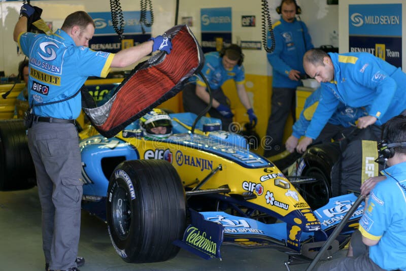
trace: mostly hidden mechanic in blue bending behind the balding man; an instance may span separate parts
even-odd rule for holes
[[[287,139],[286,150],[294,152],[300,137],[304,136],[313,114],[319,105],[321,88],[316,89],[304,102],[304,108],[300,112],[299,119],[293,124],[292,135]],[[337,107],[327,124],[324,126],[315,142],[331,142],[347,138],[355,129],[355,121],[366,115],[361,108],[345,106],[343,103]]]

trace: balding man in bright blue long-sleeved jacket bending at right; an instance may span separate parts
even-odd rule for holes
[[[361,129],[405,114],[406,74],[379,57],[369,53],[327,54],[312,49],[304,55],[303,66],[310,77],[321,83],[322,91],[306,137],[296,147],[298,152],[304,152],[319,136],[340,102],[365,107],[368,116],[357,122]],[[375,126],[374,130],[380,132]]]

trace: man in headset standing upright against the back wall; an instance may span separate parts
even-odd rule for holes
[[[274,24],[275,50],[267,53],[272,65],[271,113],[266,128],[264,156],[269,157],[282,151],[283,131],[289,113],[295,121],[296,87],[300,78],[306,76],[303,70],[303,55],[313,48],[308,28],[296,19],[301,13],[294,0],[282,0],[277,8],[281,19]],[[272,42],[268,33],[268,44]]]

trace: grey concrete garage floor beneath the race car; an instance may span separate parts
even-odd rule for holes
[[[0,271],[44,270],[41,243],[41,208],[37,188],[0,192]],[[223,260],[204,260],[183,249],[171,260],[160,263],[126,263],[111,245],[105,222],[82,211],[79,256],[86,264],[81,271],[123,270],[287,270],[288,256],[275,249],[245,249],[223,246]],[[346,250],[334,256],[344,257]],[[305,270],[310,263],[290,265]]]

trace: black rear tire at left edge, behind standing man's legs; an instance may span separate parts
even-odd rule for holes
[[[35,167],[24,121],[0,121],[0,191],[29,189],[35,185]]]

